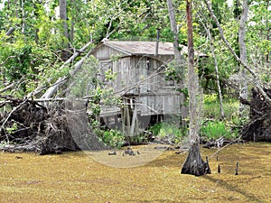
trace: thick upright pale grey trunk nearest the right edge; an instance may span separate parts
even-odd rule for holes
[[[244,63],[248,62],[247,56],[247,47],[246,47],[246,23],[248,20],[248,0],[243,1],[243,9],[240,18],[240,26],[238,31],[238,43],[240,51],[240,60]],[[248,99],[248,79],[247,79],[247,70],[240,66],[240,83],[239,83],[239,97]],[[239,104],[239,114],[247,115],[248,107],[243,105],[241,102]]]

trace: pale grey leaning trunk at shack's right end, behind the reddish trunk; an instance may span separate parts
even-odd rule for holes
[[[179,36],[178,36],[178,30],[177,30],[177,24],[175,19],[175,12],[173,8],[173,1],[167,0],[167,7],[168,7],[168,14],[171,22],[172,32],[174,36],[174,59],[177,66],[177,69],[181,69],[181,82],[180,82],[180,88],[184,88],[184,71],[183,67],[184,64],[182,64],[182,55],[179,47]],[[188,117],[188,108],[184,105],[184,102],[186,100],[186,97],[183,93],[181,93],[181,111],[182,111],[182,126],[186,126],[186,118]]]

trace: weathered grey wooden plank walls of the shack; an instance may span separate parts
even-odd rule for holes
[[[117,79],[107,84],[118,94],[134,98],[141,115],[180,113],[180,96],[173,82],[166,81],[158,69],[173,60],[173,56],[128,56],[121,51],[101,46],[93,53],[99,60],[98,78],[105,80],[108,69],[117,73]],[[118,56],[112,61],[112,56]]]

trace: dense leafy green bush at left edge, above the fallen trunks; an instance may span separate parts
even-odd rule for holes
[[[17,97],[31,92],[38,82],[47,78],[59,78],[61,71],[57,71],[58,61],[46,47],[32,42],[23,42],[18,39],[16,43],[8,39],[0,41],[0,67],[1,78],[8,82],[18,82]],[[0,78],[0,79],[1,79]]]

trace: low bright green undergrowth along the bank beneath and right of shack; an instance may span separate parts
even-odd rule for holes
[[[224,118],[220,115],[220,101],[216,94],[204,95],[203,118],[200,126],[200,136],[205,140],[216,140],[220,137],[232,140],[238,137],[238,130],[246,123],[246,118],[238,116],[238,100],[225,98],[223,100]],[[172,143],[180,143],[187,137],[189,128],[178,125],[179,117],[157,123],[145,129],[153,137],[164,138]],[[100,129],[94,126],[99,139],[108,146],[120,148],[126,141],[126,136],[119,130]],[[136,143],[146,142],[146,134],[135,134],[131,141]]]

